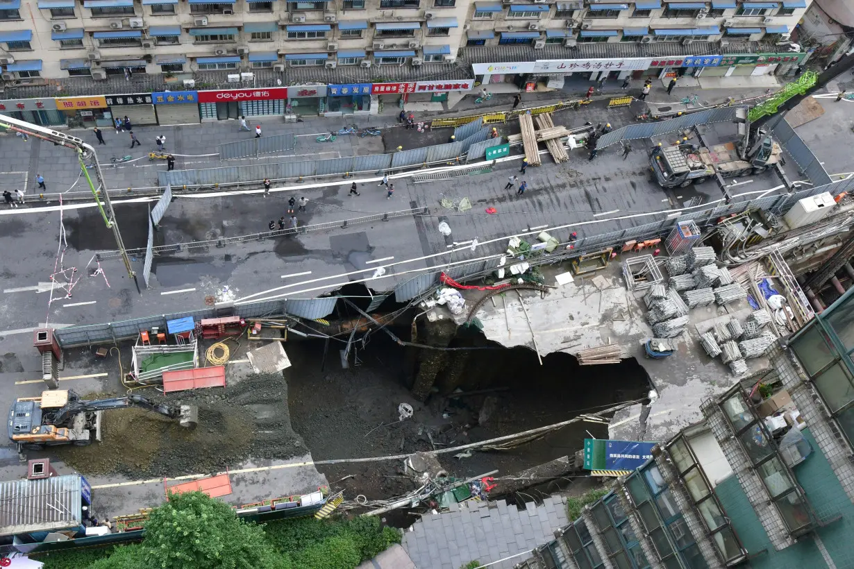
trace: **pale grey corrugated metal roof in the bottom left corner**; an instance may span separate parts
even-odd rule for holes
[[[0,502],[3,502],[0,535],[56,531],[81,525],[82,489],[83,480],[79,474],[0,482]]]

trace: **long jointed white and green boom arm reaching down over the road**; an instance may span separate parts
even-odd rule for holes
[[[32,123],[28,123],[25,120],[19,120],[13,117],[0,116],[0,128],[4,128],[8,131],[13,132],[21,132],[26,134],[27,136],[35,136],[36,138],[40,138],[44,141],[52,142],[57,146],[71,148],[74,152],[77,153],[80,168],[83,171],[84,177],[86,178],[86,183],[89,184],[89,188],[92,191],[92,195],[95,196],[95,203],[98,206],[98,210],[100,210],[101,212],[102,218],[104,219],[104,224],[107,225],[108,229],[113,230],[115,244],[116,247],[118,247],[119,252],[121,253],[121,260],[125,263],[127,276],[130,276],[133,279],[133,283],[137,286],[137,293],[142,294],[142,291],[139,288],[139,282],[137,281],[137,273],[133,270],[133,267],[131,266],[131,258],[127,256],[125,242],[121,238],[121,233],[119,231],[119,223],[116,221],[115,218],[113,202],[109,199],[107,183],[105,183],[104,181],[103,172],[101,171],[101,164],[98,162],[98,157],[97,153],[95,152],[95,148],[93,148],[91,144],[83,142],[83,140],[79,139],[76,136],[70,136],[63,132],[45,128],[44,126],[33,125]],[[86,168],[86,160],[91,160],[92,162],[92,169],[95,171],[95,178],[98,184],[97,186],[92,183],[92,179],[89,176],[89,171],[87,171]],[[103,197],[103,203],[101,202],[101,197]],[[107,206],[106,212],[103,208],[104,205]]]

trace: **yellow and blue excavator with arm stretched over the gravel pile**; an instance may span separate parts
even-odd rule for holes
[[[86,401],[70,389],[42,392],[38,398],[19,398],[9,409],[9,439],[19,448],[41,449],[59,444],[101,442],[101,414],[108,409],[139,407],[196,427],[195,405],[155,404],[140,395]]]

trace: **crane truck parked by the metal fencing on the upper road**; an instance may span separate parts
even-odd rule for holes
[[[699,144],[683,142],[670,146],[659,144],[649,155],[652,178],[662,188],[686,188],[692,183],[704,183],[717,178],[758,174],[781,164],[782,149],[765,131],[751,133],[744,109],[739,109],[737,121],[740,137],[731,142],[707,145],[703,132],[693,127]]]

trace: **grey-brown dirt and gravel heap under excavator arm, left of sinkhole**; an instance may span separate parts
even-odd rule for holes
[[[290,428],[282,374],[252,375],[225,389],[183,392],[180,398],[145,397],[197,405],[198,426],[180,427],[144,409],[106,411],[100,444],[60,447],[56,455],[81,473],[151,478],[213,473],[249,457],[285,459],[306,452]]]

